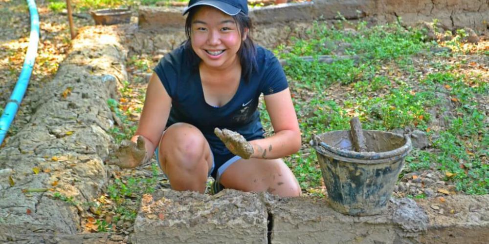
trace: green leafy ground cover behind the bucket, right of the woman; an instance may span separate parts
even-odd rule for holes
[[[480,77],[458,74],[456,71],[463,63],[433,61],[429,65],[438,72],[420,76],[412,56],[429,50],[434,43],[423,42],[421,31],[406,30],[399,24],[366,28],[360,22],[356,33],[345,33],[315,22],[306,33],[308,39],[292,40],[290,46],[282,45],[274,50],[280,59],[288,61],[285,71],[292,92],[313,94],[293,98],[304,143],[312,134],[349,129],[349,120],[354,115],[360,118],[364,129],[411,127],[429,131],[433,120],[430,109],[451,109],[454,118],[446,118],[452,122],[432,140],[433,150],[413,150],[406,157],[404,170],[436,169],[444,175],[450,172],[454,175],[449,174],[451,177],[445,180],[455,184],[457,190],[467,194],[488,193],[489,125],[484,113],[477,110],[477,103],[473,102],[478,94],[489,93],[488,82]],[[459,41],[460,38],[449,44],[461,46]],[[347,59],[327,64],[300,59],[301,56],[331,55],[335,50],[324,43],[345,42],[349,45],[344,52],[357,55],[357,61]],[[458,54],[436,55],[443,58]],[[403,74],[390,74],[390,69],[395,67]],[[335,83],[350,88],[339,101],[331,100],[331,94],[324,92]],[[264,126],[270,131],[269,118],[263,114]],[[287,158],[286,163],[303,189],[320,185],[321,172],[313,149],[299,151]]]

